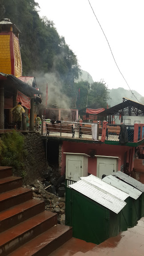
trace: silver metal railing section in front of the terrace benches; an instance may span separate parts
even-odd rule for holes
[[[96,140],[99,140],[102,128],[99,127],[99,122],[94,125],[97,128]],[[42,116],[41,135],[92,140],[92,123],[55,121],[52,124],[50,120],[44,119]]]

